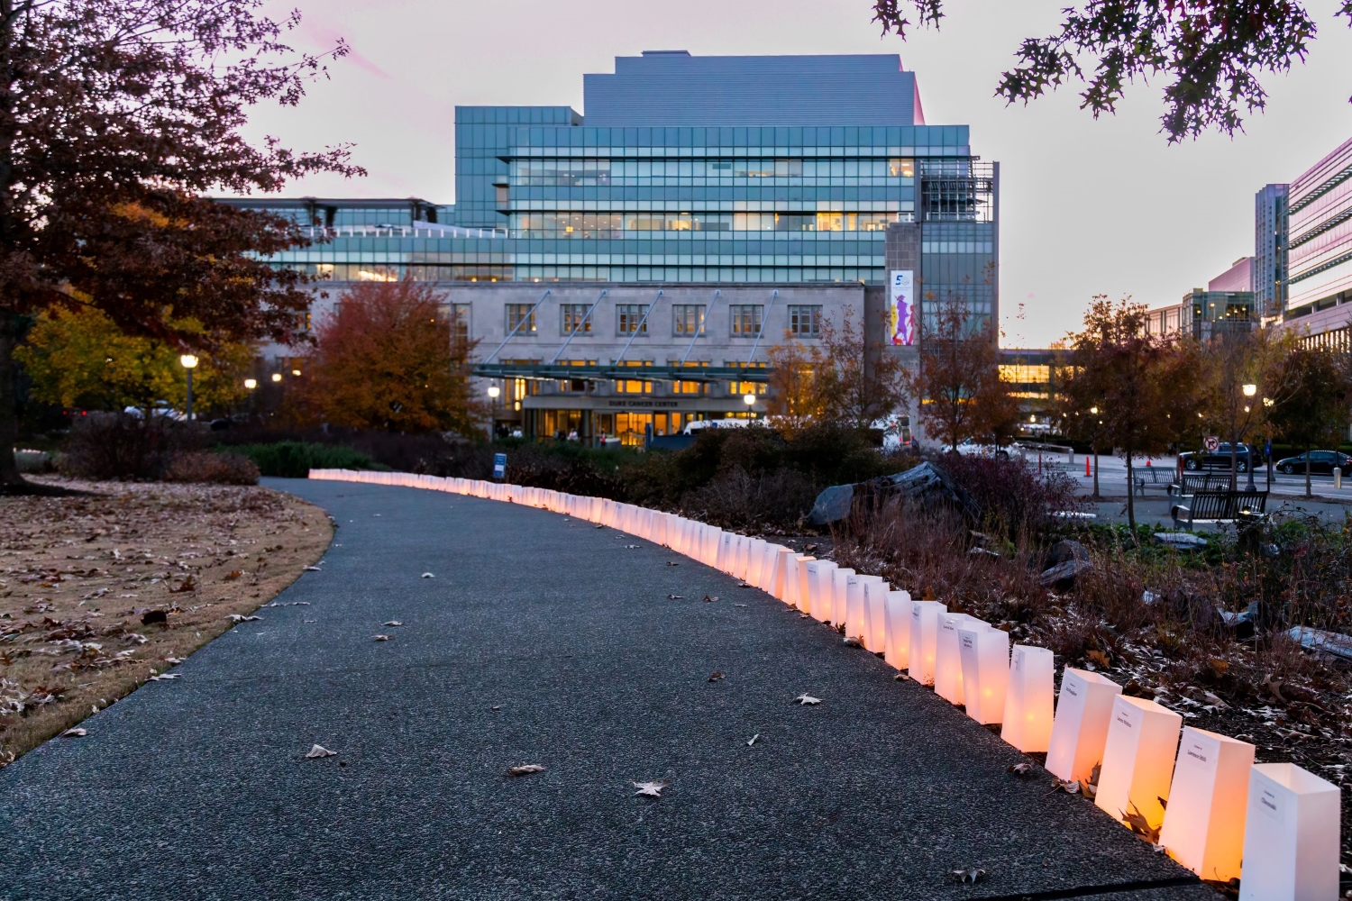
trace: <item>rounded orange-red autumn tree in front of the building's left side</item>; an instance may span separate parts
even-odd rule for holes
[[[307,405],[324,421],[470,435],[484,411],[469,393],[476,342],[456,339],[442,294],[418,281],[361,282],[318,328]]]

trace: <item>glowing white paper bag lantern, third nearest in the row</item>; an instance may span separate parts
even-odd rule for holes
[[[1094,802],[1118,820],[1140,813],[1157,828],[1164,821],[1182,725],[1182,716],[1155,701],[1113,698]]]

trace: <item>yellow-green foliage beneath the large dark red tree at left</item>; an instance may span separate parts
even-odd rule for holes
[[[82,409],[147,409],[158,401],[184,409],[188,381],[178,355],[165,342],[127,335],[92,307],[41,313],[27,343],[15,351],[37,400]],[[238,403],[251,359],[253,350],[242,343],[200,357],[192,376],[195,415]]]

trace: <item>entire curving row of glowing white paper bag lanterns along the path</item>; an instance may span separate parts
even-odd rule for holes
[[[427,488],[526,504],[637,535],[719,569],[844,632],[1046,769],[1087,785],[1119,821],[1159,829],[1160,844],[1203,879],[1241,875],[1242,901],[1330,901],[1338,892],[1337,786],[1293,763],[1253,763],[1252,744],[1183,725],[1101,674],[1067,667],[1055,702],[1052,651],[879,575],[758,538],[600,497],[411,473],[311,470],[311,478]],[[1182,740],[1180,740],[1182,739]]]

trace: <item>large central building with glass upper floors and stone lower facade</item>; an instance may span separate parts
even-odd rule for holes
[[[523,413],[569,384],[633,382],[654,403],[700,380],[763,384],[795,315],[872,320],[898,267],[984,324],[998,316],[998,165],[972,154],[967,126],[926,124],[896,55],[646,51],[584,76],[583,112],[457,107],[454,204],[228,203],[311,230],[279,266],[445,285],[481,342],[480,376],[530,382],[506,411]],[[888,258],[898,224],[914,250],[903,263]],[[635,311],[650,317],[637,338]],[[664,369],[676,363],[679,378]],[[730,380],[731,363],[753,371]],[[642,371],[618,380],[618,365]],[[730,413],[741,396],[723,401],[694,412]]]

